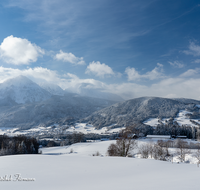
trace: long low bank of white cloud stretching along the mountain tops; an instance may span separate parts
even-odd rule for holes
[[[200,100],[200,69],[189,69],[177,77],[165,77],[151,85],[137,84],[136,82],[125,82],[106,84],[92,78],[81,79],[72,73],[60,75],[56,71],[36,67],[24,70],[0,67],[0,82],[19,75],[27,76],[35,82],[47,81],[59,85],[61,88],[74,93],[82,93],[83,90],[90,92],[114,93],[124,99],[137,98],[141,96],[157,96],[168,98],[193,98]]]

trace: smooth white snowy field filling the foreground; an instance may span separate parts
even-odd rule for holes
[[[12,179],[0,181],[0,187],[5,190],[199,190],[200,168],[196,165],[108,157],[106,151],[112,142],[43,148],[42,155],[2,156],[1,179],[5,175],[11,175]],[[91,156],[96,151],[102,156]],[[19,173],[21,178],[35,178],[35,181],[14,181],[14,175]]]

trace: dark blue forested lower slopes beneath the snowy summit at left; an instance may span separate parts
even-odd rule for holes
[[[1,106],[0,128],[29,129],[38,125],[66,124],[92,114],[93,112],[110,106],[116,102],[98,98],[81,97],[73,94],[52,96],[50,99],[19,104]]]

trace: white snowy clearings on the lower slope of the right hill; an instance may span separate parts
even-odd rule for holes
[[[196,106],[199,106],[199,105],[196,105]],[[192,114],[192,112],[180,110],[179,113],[177,114],[176,118],[174,118],[174,121],[176,121],[180,126],[181,125],[197,126],[194,123],[192,123],[189,118],[187,118],[186,114]],[[163,124],[165,124],[166,121],[168,121],[168,120],[169,120],[169,118],[164,118],[161,120],[161,122]],[[192,119],[192,120],[200,124],[200,119]],[[159,124],[158,121],[159,121],[158,118],[150,118],[150,119],[144,121],[143,123],[146,125],[150,125],[152,127],[156,127]]]

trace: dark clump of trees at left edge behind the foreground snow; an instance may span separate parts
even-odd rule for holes
[[[0,135],[0,156],[38,154],[39,144],[33,137]]]

